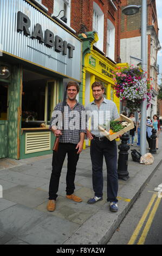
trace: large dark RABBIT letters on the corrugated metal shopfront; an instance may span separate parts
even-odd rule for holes
[[[34,31],[30,33],[30,19],[27,15],[23,14],[21,11],[17,13],[17,32],[23,32],[26,36],[31,36],[31,39],[38,39],[41,43],[44,43],[47,47],[54,47],[56,52],[62,52],[63,55],[67,55],[69,58],[73,58],[73,51],[75,46],[69,44],[67,41],[63,41],[58,35],[54,35],[49,29],[46,29],[43,36],[42,26],[37,23],[34,26]]]

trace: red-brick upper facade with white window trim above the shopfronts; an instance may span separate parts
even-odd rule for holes
[[[114,58],[117,63],[120,62],[120,0],[31,0],[38,7],[42,8],[46,13],[51,16],[57,16],[60,12],[58,2],[63,2],[64,5],[70,7],[70,21],[68,26],[62,22],[59,18],[63,16],[60,14],[57,17],[57,21],[61,22],[63,26],[72,29],[74,33],[82,31],[93,31],[93,15],[94,15],[94,3],[97,8],[100,8],[100,12],[103,13],[103,47],[100,50],[103,55],[107,56],[107,20],[109,20],[115,28],[115,41],[114,41]],[[60,8],[63,5],[60,4]],[[44,9],[45,8],[45,9]],[[65,15],[67,10],[65,10]],[[99,38],[100,40],[100,38]]]

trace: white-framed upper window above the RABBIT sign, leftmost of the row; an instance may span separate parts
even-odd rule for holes
[[[61,20],[62,16],[66,16],[67,17],[67,23],[65,23],[64,21],[62,21],[63,23],[65,23],[66,25],[70,26],[70,1],[71,0],[55,0],[54,1],[54,13],[52,14],[52,16],[57,16],[59,15],[61,10],[60,15],[57,17],[57,19]]]

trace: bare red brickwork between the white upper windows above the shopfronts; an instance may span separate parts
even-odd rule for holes
[[[42,0],[42,4],[48,7],[48,14],[53,14],[55,0]],[[104,37],[103,37],[103,52],[106,53],[107,42],[107,19],[111,20],[115,26],[115,61],[119,62],[120,57],[120,0],[115,0],[118,10],[114,10],[108,0],[71,0],[71,20],[70,27],[76,32],[80,31],[81,26],[86,26],[87,32],[93,30],[93,2],[99,5],[104,14]],[[125,2],[125,1],[122,1]]]

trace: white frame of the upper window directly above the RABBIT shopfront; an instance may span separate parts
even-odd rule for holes
[[[61,7],[60,7],[59,10],[56,10],[56,9],[55,9],[55,1],[54,1],[54,10],[53,10],[54,13],[53,13],[51,16],[52,16],[52,17],[53,17],[53,16],[57,16],[57,15],[59,15],[59,13],[60,13],[60,15],[57,17],[57,19],[58,19],[61,23],[63,23],[64,25],[70,27],[71,0],[59,0],[59,1],[60,1],[60,2],[62,1],[64,4],[66,4],[66,12],[65,12],[65,13],[64,13],[64,12],[61,12],[61,13],[60,13],[60,11],[62,10]],[[63,15],[66,15],[66,17],[67,17],[67,23],[61,20],[61,17],[62,17]]]

